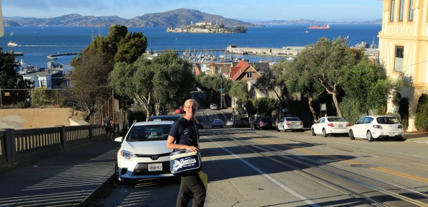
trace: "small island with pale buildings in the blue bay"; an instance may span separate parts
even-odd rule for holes
[[[244,26],[238,26],[236,28],[226,28],[224,24],[215,24],[211,22],[198,22],[195,25],[193,23],[190,26],[184,26],[182,28],[173,29],[171,26],[166,28],[166,32],[182,32],[182,33],[246,33]]]

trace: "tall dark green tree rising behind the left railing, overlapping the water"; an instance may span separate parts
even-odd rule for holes
[[[72,60],[72,96],[86,118],[98,110],[111,97],[112,87],[108,74],[116,62],[133,62],[144,54],[146,37],[141,32],[128,32],[126,26],[112,26],[106,37],[97,37],[81,54]]]

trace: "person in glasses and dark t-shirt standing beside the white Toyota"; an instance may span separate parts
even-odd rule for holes
[[[175,121],[169,132],[166,147],[174,150],[199,150],[197,146],[197,129],[195,113],[197,103],[194,99],[184,102],[186,115]],[[187,206],[193,195],[193,206],[204,206],[206,189],[197,172],[192,175],[182,176],[182,182],[177,196],[177,206]]]

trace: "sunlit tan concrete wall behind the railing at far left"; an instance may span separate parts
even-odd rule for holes
[[[68,118],[72,116],[72,108],[1,109],[0,128],[32,129],[70,126]]]

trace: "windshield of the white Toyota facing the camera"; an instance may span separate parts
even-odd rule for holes
[[[130,128],[126,141],[155,141],[168,139],[172,124],[133,126]]]

